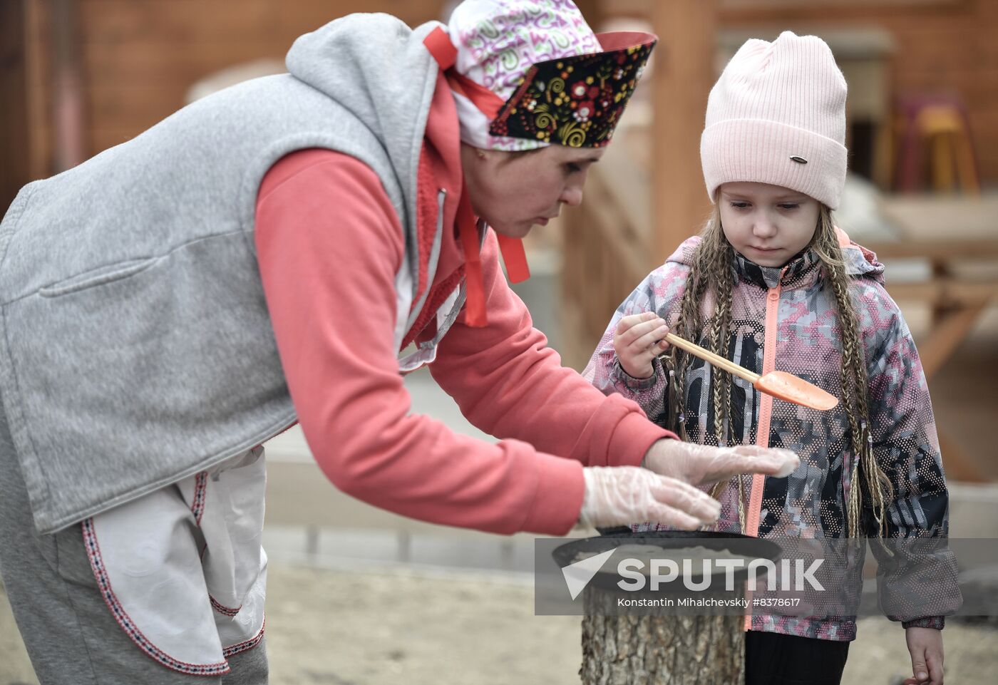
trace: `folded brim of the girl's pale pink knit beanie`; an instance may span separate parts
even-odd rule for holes
[[[845,185],[843,145],[773,121],[729,119],[709,126],[700,155],[712,203],[722,184],[752,181],[789,188],[834,210]]]

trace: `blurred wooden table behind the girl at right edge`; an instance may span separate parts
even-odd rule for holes
[[[867,245],[880,259],[928,261],[931,276],[917,283],[887,281],[895,300],[916,300],[932,308],[930,329],[918,353],[930,379],[964,342],[985,310],[998,302],[998,276],[966,275],[957,265],[998,266],[998,196],[892,196],[880,203],[883,215],[898,229],[897,241]],[[940,448],[946,471],[958,480],[981,480],[941,427]]]

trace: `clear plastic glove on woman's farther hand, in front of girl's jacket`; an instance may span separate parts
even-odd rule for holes
[[[693,485],[706,485],[728,480],[739,473],[764,473],[783,478],[800,465],[800,457],[789,449],[753,444],[712,447],[682,440],[658,440],[645,453],[642,465],[660,475]]]

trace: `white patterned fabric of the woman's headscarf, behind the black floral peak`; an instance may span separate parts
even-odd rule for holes
[[[603,50],[571,0],[464,0],[450,16],[455,70],[507,100],[537,62]],[[549,143],[493,136],[489,118],[453,91],[461,141],[485,150],[533,150]]]

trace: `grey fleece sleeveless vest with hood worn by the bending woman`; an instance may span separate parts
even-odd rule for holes
[[[252,235],[259,183],[283,155],[341,151],[381,179],[405,231],[401,341],[425,298],[411,274],[437,76],[422,38],[436,25],[334,21],[295,41],[290,74],[210,96],[22,189],[0,224],[0,396],[39,530],[295,420]]]

